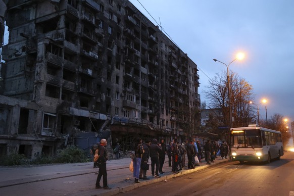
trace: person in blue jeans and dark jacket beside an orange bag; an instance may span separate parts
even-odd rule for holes
[[[133,176],[135,178],[135,183],[139,183],[140,182],[139,181],[140,165],[141,165],[141,160],[144,153],[142,139],[140,137],[138,137],[135,142],[134,150],[135,150],[135,159],[133,159],[133,167],[134,167]]]

